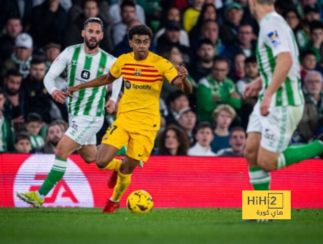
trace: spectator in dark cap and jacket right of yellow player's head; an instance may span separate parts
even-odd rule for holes
[[[181,24],[178,21],[169,21],[166,23],[165,33],[157,39],[157,49],[159,53],[163,53],[169,46],[176,46],[183,55],[186,65],[192,60],[191,50],[189,47],[180,43]]]

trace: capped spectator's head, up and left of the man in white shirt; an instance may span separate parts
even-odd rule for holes
[[[196,125],[196,115],[192,108],[186,107],[180,110],[178,123],[180,127],[186,132],[186,135],[192,145],[194,142],[193,130]]]

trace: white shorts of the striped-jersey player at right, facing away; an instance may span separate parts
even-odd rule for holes
[[[302,119],[304,105],[271,107],[270,114],[260,114],[258,102],[249,117],[247,133],[261,133],[260,146],[274,153],[285,151],[294,131]]]

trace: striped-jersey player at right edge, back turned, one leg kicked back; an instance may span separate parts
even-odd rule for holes
[[[249,118],[245,157],[255,190],[270,188],[270,171],[321,155],[323,142],[288,147],[303,115],[299,52],[293,31],[274,9],[274,0],[249,0],[259,23],[256,56],[260,77],[248,84],[244,96],[259,93]]]

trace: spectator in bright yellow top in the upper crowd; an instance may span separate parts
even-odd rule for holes
[[[190,32],[197,22],[198,17],[200,16],[202,7],[204,5],[204,0],[194,0],[192,7],[188,8],[183,15],[183,24],[184,30]]]

